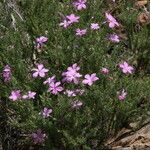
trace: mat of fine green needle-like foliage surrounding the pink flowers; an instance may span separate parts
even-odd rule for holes
[[[39,148],[98,149],[108,137],[148,110],[150,28],[137,21],[144,10],[135,9],[133,2],[88,0],[87,9],[77,11],[69,0],[17,0],[3,1],[0,8],[0,70],[7,64],[12,69],[10,82],[5,83],[1,76],[1,114],[8,125],[25,135],[38,129],[46,133]],[[104,23],[105,12],[111,12],[121,26],[110,29]],[[80,16],[79,23],[67,29],[60,27],[63,18],[70,14]],[[99,23],[99,30],[90,29],[93,22]],[[87,28],[87,34],[76,36],[77,28]],[[121,37],[119,43],[108,40],[113,33]],[[36,38],[40,36],[46,36],[48,42],[39,51]],[[133,74],[121,72],[118,64],[123,61],[134,66]],[[92,86],[64,85],[66,89],[84,89],[83,95],[53,95],[43,84],[46,77],[32,77],[31,70],[37,63],[44,64],[49,69],[47,77],[56,75],[57,81],[74,63],[81,67],[83,77],[96,73],[99,80]],[[103,67],[109,68],[110,73],[102,74]],[[22,93],[35,91],[35,99],[11,101],[11,91],[18,89]],[[121,89],[127,91],[124,101],[117,97]],[[70,104],[74,100],[82,101],[83,106],[73,109]],[[51,117],[39,115],[44,107],[52,108]],[[30,136],[21,136],[21,140],[32,143]]]

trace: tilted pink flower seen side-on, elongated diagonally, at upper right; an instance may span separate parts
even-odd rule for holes
[[[109,13],[105,13],[106,19],[109,22],[109,27],[114,28],[115,26],[119,26],[117,20]]]

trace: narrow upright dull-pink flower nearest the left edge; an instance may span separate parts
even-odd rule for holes
[[[11,68],[9,65],[6,65],[3,70],[3,78],[4,82],[8,82],[11,80]]]

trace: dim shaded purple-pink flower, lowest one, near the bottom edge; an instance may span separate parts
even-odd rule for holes
[[[46,134],[43,134],[41,129],[31,134],[31,138],[35,144],[41,144],[45,141]]]

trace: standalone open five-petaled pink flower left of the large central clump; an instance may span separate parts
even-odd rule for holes
[[[32,69],[32,71],[35,71],[33,73],[33,77],[36,78],[36,77],[45,77],[45,73],[48,72],[49,70],[48,69],[45,69],[43,64],[38,64],[37,65],[37,69],[34,68]]]

